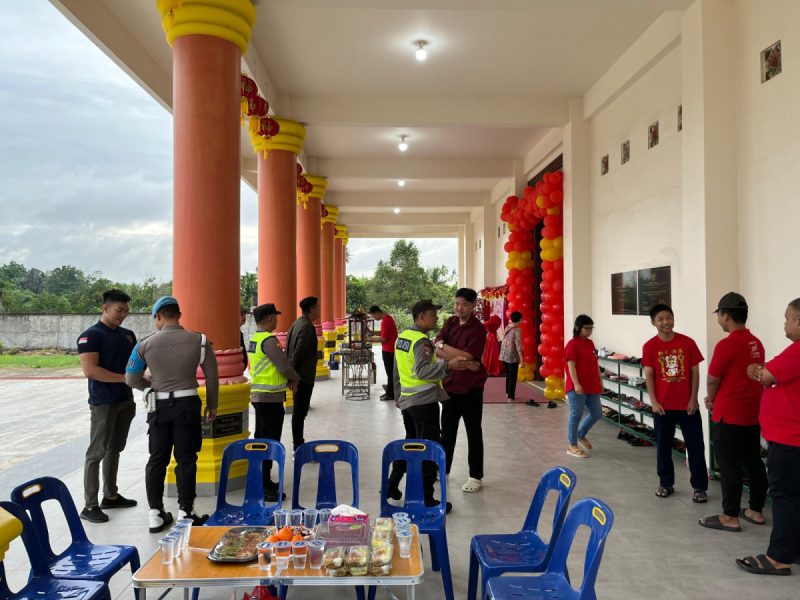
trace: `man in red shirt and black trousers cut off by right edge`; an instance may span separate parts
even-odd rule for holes
[[[772,534],[766,554],[736,564],[758,575],[791,575],[791,563],[800,561],[800,298],[789,303],[785,318],[789,347],[767,364],[747,368],[750,378],[764,386],[759,421],[769,442]]]

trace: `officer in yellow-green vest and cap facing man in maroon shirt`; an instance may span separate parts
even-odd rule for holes
[[[394,389],[396,404],[403,411],[403,423],[407,439],[423,439],[441,443],[439,429],[439,402],[447,400],[442,388],[442,379],[448,371],[474,369],[474,364],[464,357],[440,361],[436,357],[428,332],[436,327],[439,320],[437,311],[442,308],[431,300],[420,300],[411,307],[414,324],[403,331],[395,344]],[[389,476],[388,493],[391,498],[400,499],[397,489],[405,473],[405,463],[392,465]],[[436,465],[426,461],[422,468],[423,493],[425,504],[436,506],[439,501],[433,497],[433,484],[436,481]],[[447,503],[447,512],[452,510]]]

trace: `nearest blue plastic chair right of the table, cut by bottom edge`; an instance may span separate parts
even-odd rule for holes
[[[533,577],[493,577],[486,585],[486,599],[491,600],[595,600],[594,590],[600,560],[603,558],[606,537],[614,524],[614,513],[596,498],[578,500],[569,511],[561,534],[556,541],[553,557],[543,575]],[[583,581],[575,589],[567,579],[569,555],[578,527],[590,529],[586,559],[583,563]]]

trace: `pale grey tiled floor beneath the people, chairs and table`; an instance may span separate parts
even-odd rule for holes
[[[317,384],[306,427],[307,439],[341,438],[354,442],[360,452],[361,507],[377,512],[380,453],[383,445],[402,437],[402,423],[392,403],[380,402],[380,387],[365,402],[341,398],[339,374]],[[82,505],[82,457],[88,433],[85,382],[2,381],[0,410],[6,415],[0,429],[0,496],[8,498],[11,487],[24,477],[54,474],[66,481],[76,503]],[[761,553],[766,549],[769,527],[744,524],[744,532],[723,533],[702,529],[697,519],[719,512],[719,486],[712,482],[711,501],[706,506],[692,504],[688,471],[678,468],[677,493],[669,499],[653,494],[656,486],[655,452],[652,448],[633,448],[615,439],[616,431],[599,423],[591,434],[595,444],[588,460],[565,454],[566,410],[524,404],[492,404],[484,407],[486,478],[483,491],[465,494],[461,484],[467,477],[466,446],[462,429],[456,460],[450,478],[449,499],[454,511],[448,517],[447,531],[456,598],[466,597],[467,562],[470,538],[477,533],[511,532],[521,525],[533,488],[541,473],[553,465],[572,468],[578,478],[576,496],[596,496],[614,510],[615,524],[609,537],[597,583],[599,598],[700,599],[727,598],[790,600],[800,598],[798,576],[756,577],[741,571],[736,557]],[[13,419],[13,427],[6,426]],[[147,460],[144,415],[134,423],[128,447],[122,456],[120,487],[140,505],[133,509],[109,511],[106,524],[86,524],[90,539],[103,543],[135,544],[146,560],[155,550],[157,535],[146,529],[144,505],[144,463]],[[252,422],[252,421],[251,421]],[[290,436],[288,419],[284,438]],[[20,441],[22,440],[22,441]],[[34,443],[35,441],[35,443]],[[286,487],[291,486],[291,463],[287,465]],[[306,481],[306,479],[304,479]],[[304,491],[310,493],[311,490]],[[198,499],[198,512],[210,512],[214,499]],[[168,508],[175,511],[174,500]],[[769,518],[769,513],[767,513]],[[55,545],[66,544],[66,525],[55,523]],[[571,573],[581,572],[581,550],[571,560]],[[426,558],[425,581],[418,598],[442,598],[441,579],[429,570]],[[27,574],[27,563],[20,542],[6,556],[12,589],[18,588]],[[132,598],[129,575],[122,573],[112,581],[115,598]],[[239,596],[241,597],[239,590]],[[232,590],[203,592],[202,598],[231,598]],[[349,594],[350,592],[347,592]],[[332,589],[304,588],[291,597],[330,598]],[[338,593],[337,593],[338,595]],[[398,595],[400,591],[398,590]],[[169,597],[180,597],[177,591]],[[379,598],[390,597],[381,590]]]

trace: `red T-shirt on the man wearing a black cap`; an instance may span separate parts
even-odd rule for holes
[[[758,425],[761,384],[747,376],[747,366],[764,362],[764,346],[749,329],[731,331],[714,348],[708,374],[719,379],[711,420],[730,425]]]

